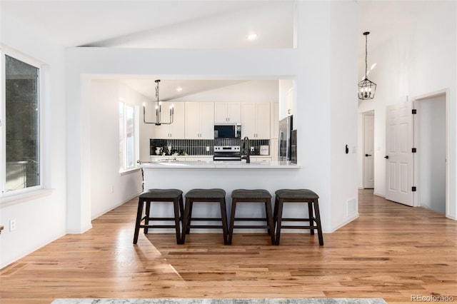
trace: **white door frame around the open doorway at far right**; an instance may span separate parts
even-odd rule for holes
[[[416,96],[414,98],[412,98],[412,101],[413,101],[413,108],[416,108],[416,104],[417,103],[420,103],[421,101],[423,100],[426,100],[426,99],[430,99],[430,98],[434,98],[434,97],[437,97],[437,96],[442,96],[444,95],[445,98],[445,102],[446,102],[446,113],[445,113],[445,116],[446,116],[446,218],[451,218],[451,215],[448,214],[448,211],[449,211],[449,191],[450,191],[450,188],[449,188],[449,90],[448,89],[443,89],[443,90],[440,90],[440,91],[435,91],[435,92],[431,92],[431,93],[426,93],[426,94],[423,94],[423,95],[420,95],[420,96]],[[418,143],[420,141],[420,138],[421,138],[421,134],[418,132],[419,130],[419,119],[415,118],[413,116],[413,144],[414,146],[418,146]],[[413,159],[413,183],[415,185],[419,185],[419,181],[421,181],[421,175],[420,175],[420,172],[419,172],[419,168],[420,168],[420,163],[419,163],[419,158],[418,157],[415,157]],[[413,193],[413,200],[415,202],[417,202],[419,204],[420,198],[421,196],[421,189],[418,188],[418,191],[414,192]]]

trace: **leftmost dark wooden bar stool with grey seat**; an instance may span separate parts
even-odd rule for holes
[[[138,211],[136,213],[136,224],[134,234],[134,244],[138,241],[140,228],[144,228],[144,233],[148,233],[149,228],[175,228],[176,243],[181,243],[181,229],[179,227],[180,214],[184,211],[183,191],[178,189],[149,189],[139,195]],[[153,202],[173,202],[174,218],[151,217],[151,203]],[[143,206],[146,203],[145,216],[143,216]],[[141,222],[144,221],[144,225]],[[149,221],[174,221],[174,225],[153,225]]]

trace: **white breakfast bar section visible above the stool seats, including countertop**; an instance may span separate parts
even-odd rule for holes
[[[141,163],[144,189],[223,188],[227,195],[237,188],[303,188],[297,181],[299,165],[290,161],[156,161]]]

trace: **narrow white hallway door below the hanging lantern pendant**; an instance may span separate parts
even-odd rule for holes
[[[363,116],[363,188],[374,188],[374,115]]]

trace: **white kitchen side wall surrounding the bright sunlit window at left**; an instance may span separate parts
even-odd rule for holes
[[[120,98],[136,105],[141,113],[141,105],[148,101],[119,81],[91,81],[91,219],[141,192],[141,171],[119,173]],[[149,137],[140,142],[149,143]]]

